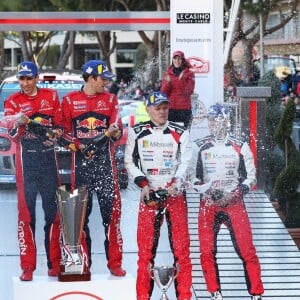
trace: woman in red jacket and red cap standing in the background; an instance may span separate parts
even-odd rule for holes
[[[195,88],[195,74],[190,67],[184,53],[175,51],[160,89],[170,100],[169,121],[183,123],[186,128],[190,128],[192,123],[191,95]]]

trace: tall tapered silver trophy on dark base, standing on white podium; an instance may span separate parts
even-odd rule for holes
[[[88,255],[81,245],[87,197],[85,187],[80,187],[71,194],[62,186],[56,192],[62,234],[59,281],[91,280]]]

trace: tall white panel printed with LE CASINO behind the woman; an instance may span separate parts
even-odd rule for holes
[[[206,109],[223,102],[223,0],[171,0],[171,55],[176,50],[195,72],[192,132],[207,133]]]

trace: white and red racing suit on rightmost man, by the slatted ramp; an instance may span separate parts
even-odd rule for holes
[[[209,292],[220,290],[216,263],[217,234],[225,224],[233,239],[233,245],[243,260],[247,287],[251,295],[264,291],[256,250],[252,241],[249,218],[243,202],[243,194],[256,184],[253,154],[247,143],[228,138],[218,142],[212,136],[196,140],[196,177],[202,182],[212,182],[210,190],[202,195],[199,210],[198,234],[201,265]],[[222,193],[229,192],[230,200],[222,202]]]

